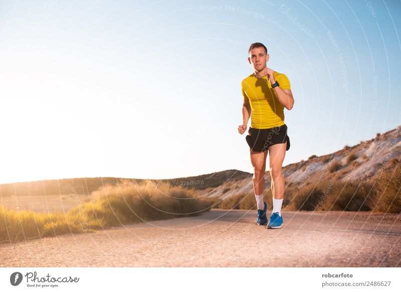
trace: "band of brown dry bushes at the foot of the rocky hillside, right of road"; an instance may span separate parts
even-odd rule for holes
[[[288,184],[285,188],[283,209],[305,211],[374,211],[401,213],[401,166],[399,164],[376,181],[374,186],[361,183],[344,184],[331,180]],[[341,171],[345,172],[345,171]],[[272,208],[271,189],[264,200]],[[256,209],[255,195],[242,193],[223,201],[215,199],[214,208]]]

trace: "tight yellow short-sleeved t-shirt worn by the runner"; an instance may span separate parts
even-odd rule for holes
[[[282,89],[291,89],[287,76],[274,71],[274,79]],[[267,129],[284,124],[284,105],[277,99],[276,92],[267,76],[256,78],[252,73],[241,82],[241,90],[251,104],[251,127]]]

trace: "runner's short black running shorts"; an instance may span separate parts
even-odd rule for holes
[[[250,127],[245,137],[249,147],[256,152],[267,151],[271,145],[287,141],[286,151],[290,149],[290,137],[287,135],[287,125],[269,129],[255,129]]]

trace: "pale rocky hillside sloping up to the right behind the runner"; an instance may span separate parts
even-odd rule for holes
[[[357,145],[324,156],[311,156],[307,161],[283,167],[286,186],[303,187],[319,181],[372,183],[378,176],[391,172],[401,159],[401,126],[377,134]],[[269,171],[265,174],[265,190],[270,188]],[[206,189],[208,197],[226,199],[240,193],[253,193],[252,174],[243,180],[229,180],[218,188]],[[200,193],[199,193],[200,194]]]

